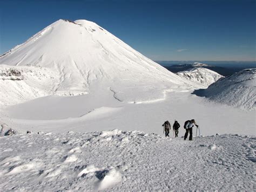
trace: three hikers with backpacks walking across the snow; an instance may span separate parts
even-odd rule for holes
[[[164,126],[164,133],[165,133],[165,136],[169,136],[169,133],[170,133],[170,130],[171,130],[171,127],[172,127],[172,128],[173,128],[173,132],[175,133],[175,137],[176,137],[176,138],[178,137],[179,127],[180,127],[178,121],[175,120],[173,126],[171,126],[171,124],[170,124],[169,121],[165,121],[162,126]],[[195,121],[194,119],[185,121],[184,129],[186,129],[186,133],[185,133],[185,135],[184,135],[184,140],[187,139],[188,133],[190,133],[190,138],[189,138],[189,140],[193,140],[192,128],[193,128],[194,126],[196,126],[196,127],[198,128],[198,125],[197,125],[197,123],[196,123],[196,121]]]

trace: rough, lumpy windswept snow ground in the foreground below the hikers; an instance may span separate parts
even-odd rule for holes
[[[184,141],[138,131],[0,138],[0,189],[253,191],[256,138]]]

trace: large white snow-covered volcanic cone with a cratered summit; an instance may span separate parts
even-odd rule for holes
[[[58,95],[105,90],[119,101],[147,102],[189,84],[87,20],[58,20],[0,56],[0,64],[50,68],[56,76],[48,89]]]

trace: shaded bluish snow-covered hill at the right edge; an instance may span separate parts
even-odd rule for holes
[[[242,109],[255,109],[256,68],[242,70],[210,85],[204,95],[211,100]]]

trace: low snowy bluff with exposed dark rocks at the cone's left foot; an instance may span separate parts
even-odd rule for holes
[[[15,105],[52,94],[56,76],[50,68],[0,65],[0,105]]]

